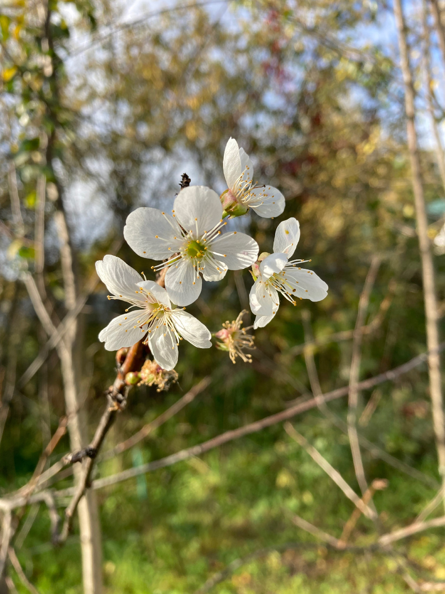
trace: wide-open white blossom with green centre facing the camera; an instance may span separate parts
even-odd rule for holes
[[[237,231],[221,233],[218,194],[204,186],[183,188],[172,215],[157,208],[136,208],[129,214],[123,236],[136,254],[166,260],[154,270],[168,267],[166,289],[177,305],[198,299],[202,280],[220,280],[227,270],[241,270],[258,258],[258,244]],[[201,274],[200,274],[201,273]]]

